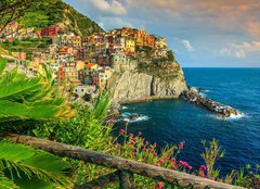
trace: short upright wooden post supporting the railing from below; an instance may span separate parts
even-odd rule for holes
[[[134,189],[133,173],[119,171],[119,188],[120,189]]]

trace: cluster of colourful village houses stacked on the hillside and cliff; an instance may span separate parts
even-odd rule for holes
[[[139,49],[150,49],[153,59],[168,56],[166,38],[127,27],[81,37],[58,26],[36,30],[20,28],[15,22],[8,25],[1,36],[4,36],[1,42],[50,38],[48,48],[36,49],[30,55],[22,51],[11,52],[15,58],[13,63],[31,74],[43,72],[42,65],[46,64],[56,84],[75,84],[74,92],[81,97],[105,88],[113,72],[120,72],[122,67],[134,70],[138,65],[133,60]]]

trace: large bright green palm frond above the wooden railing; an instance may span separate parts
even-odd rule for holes
[[[65,103],[51,84],[50,73],[27,77],[14,68],[3,72],[6,61],[1,59],[0,67],[0,123],[18,119],[67,118],[73,115],[70,106]]]

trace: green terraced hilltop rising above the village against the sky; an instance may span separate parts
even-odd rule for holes
[[[35,0],[31,7],[18,20],[21,27],[43,28],[50,25],[61,25],[77,35],[90,35],[103,29],[87,16],[62,0]]]

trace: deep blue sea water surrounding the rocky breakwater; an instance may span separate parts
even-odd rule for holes
[[[260,68],[183,68],[188,86],[206,89],[203,93],[229,104],[245,115],[218,118],[210,112],[182,100],[161,100],[125,104],[123,114],[144,115],[130,123],[128,130],[142,131],[159,148],[185,141],[180,159],[194,168],[204,163],[202,140],[217,139],[225,152],[217,166],[221,175],[246,164],[260,164]],[[117,125],[123,128],[123,123]]]

